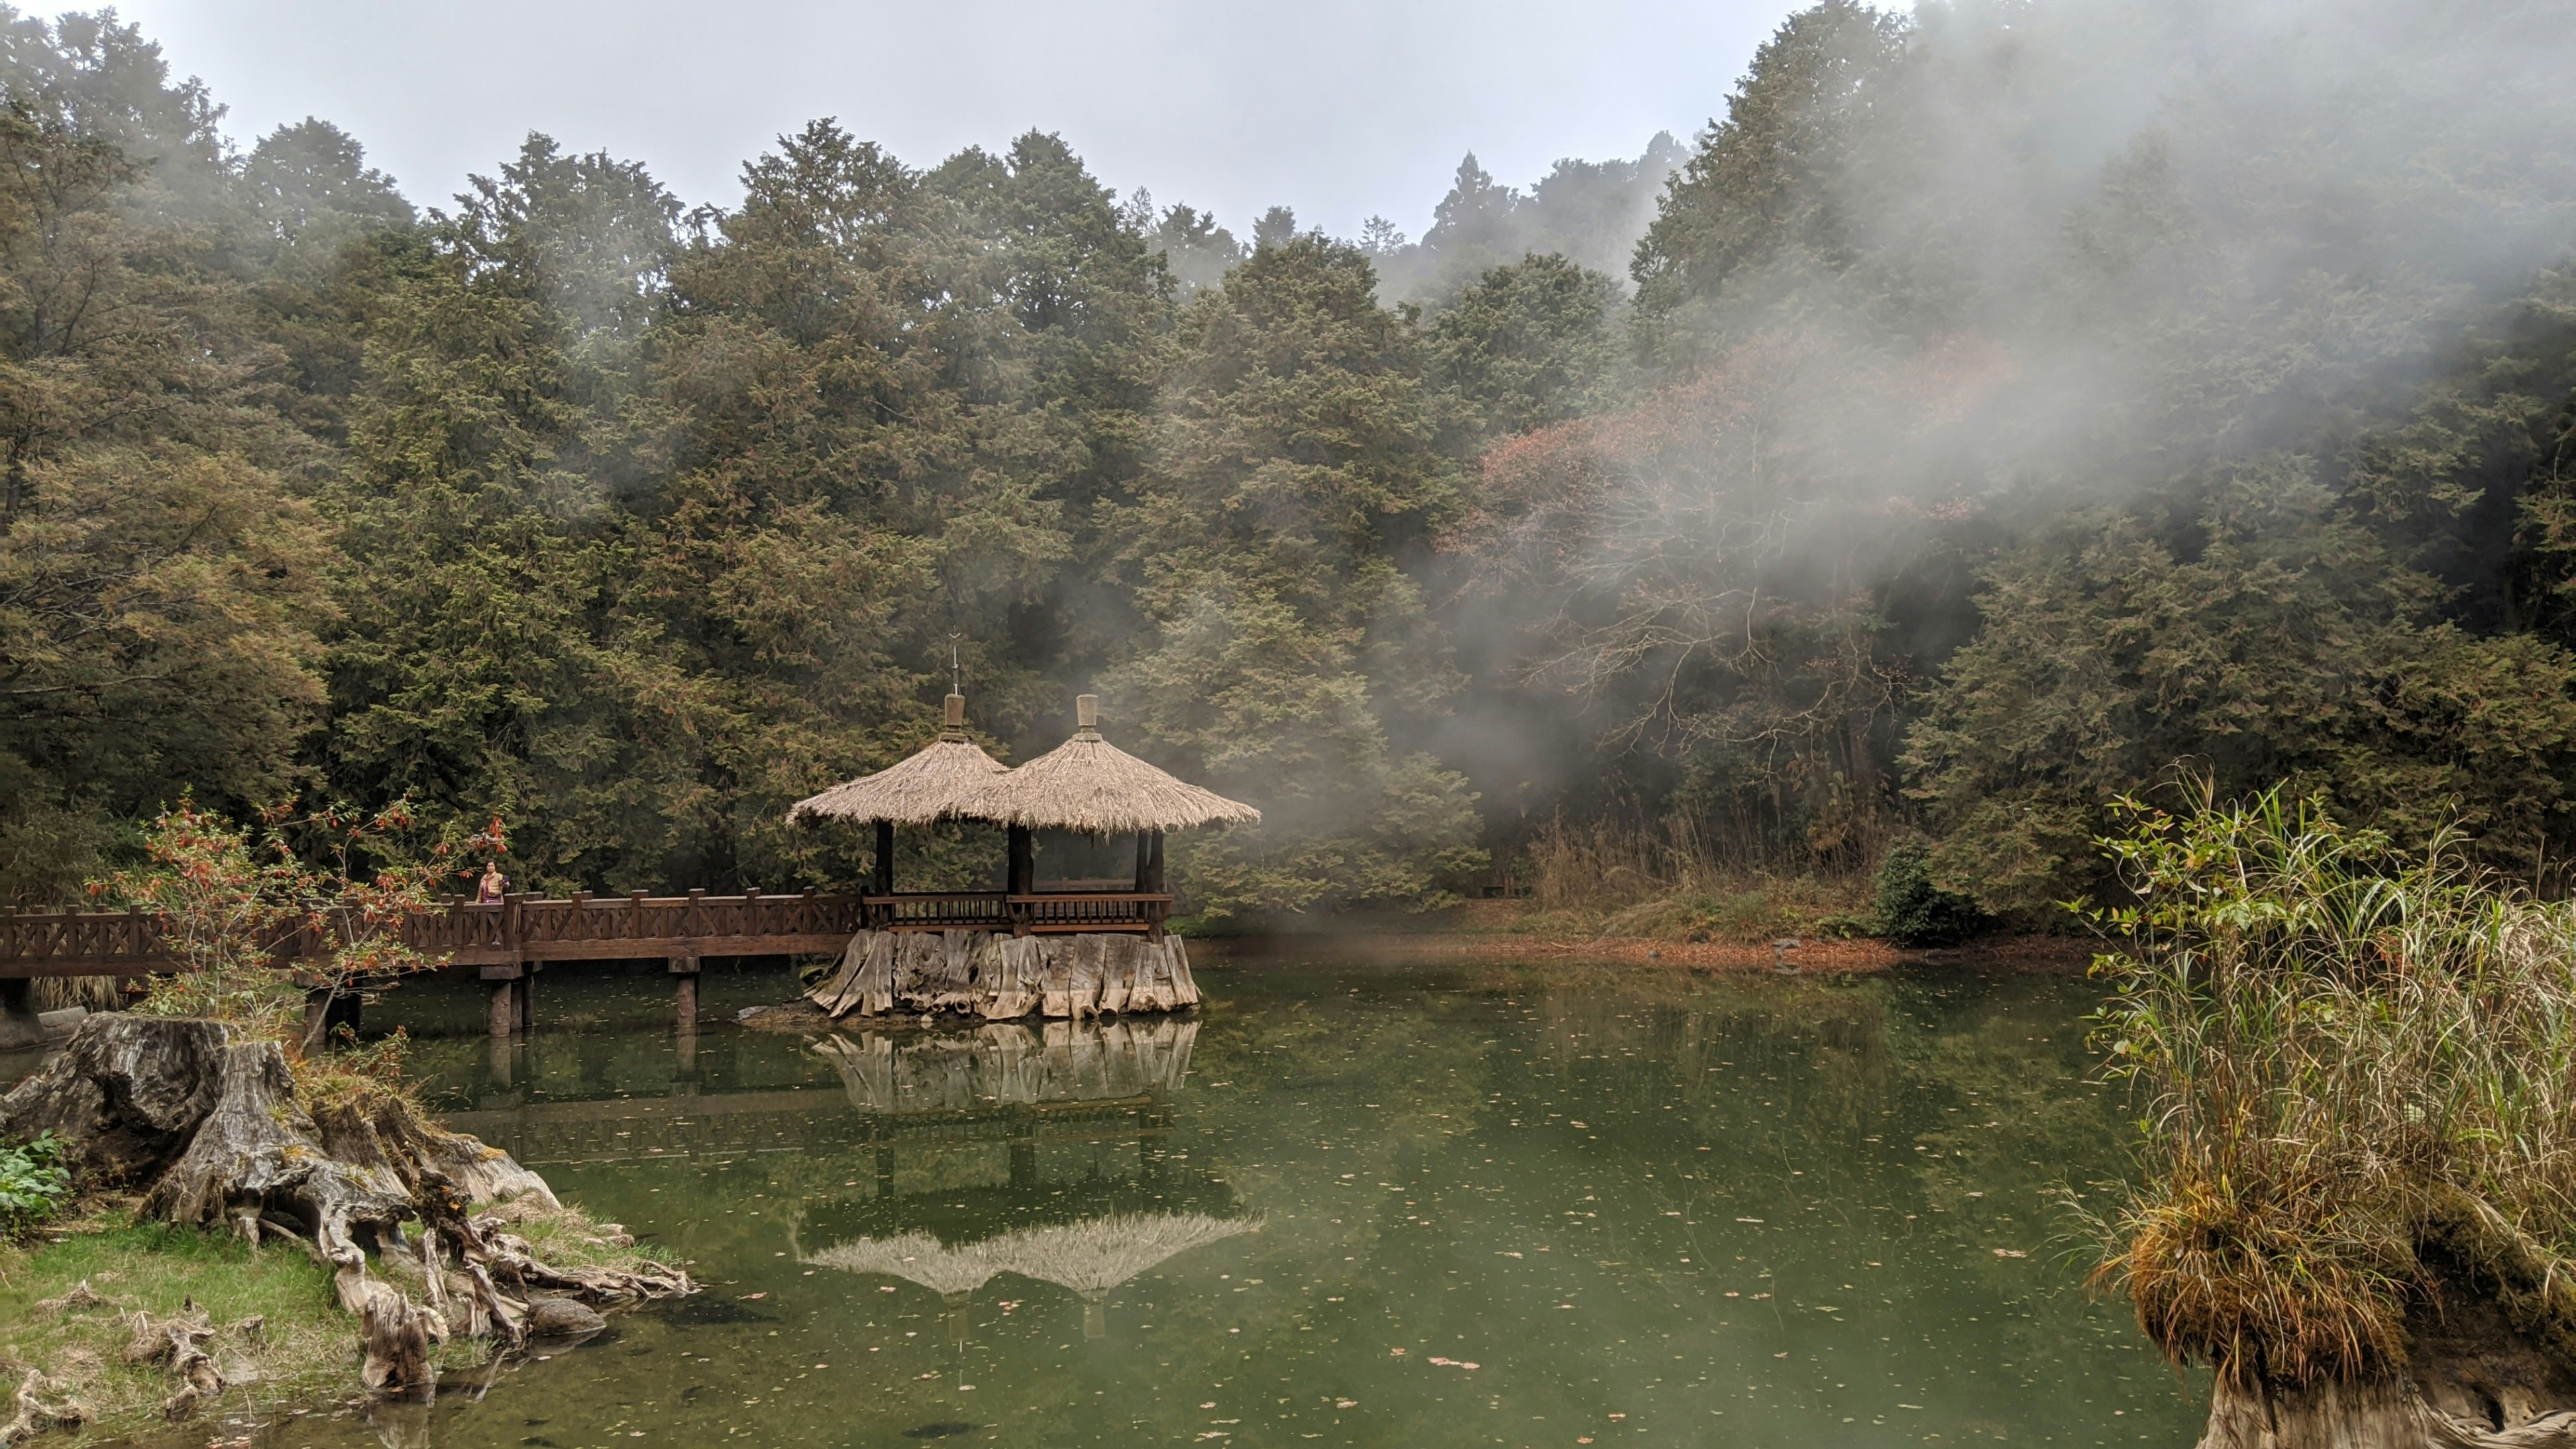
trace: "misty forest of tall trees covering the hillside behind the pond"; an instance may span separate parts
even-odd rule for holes
[[[935,735],[951,655],[1002,758],[1097,691],[1260,804],[1175,843],[1216,918],[1556,822],[2035,913],[2177,771],[2555,890],[2571,36],[1824,0],[1690,142],[1342,240],[832,119],[732,206],[538,134],[425,206],[0,10],[0,897],[180,797],[848,884],[783,807]]]

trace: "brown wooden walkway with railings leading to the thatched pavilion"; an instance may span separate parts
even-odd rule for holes
[[[698,1013],[698,962],[706,957],[837,954],[876,931],[1162,931],[1172,897],[1136,890],[886,892],[886,895],[572,895],[451,902],[404,923],[404,941],[453,969],[492,982],[492,1034],[526,1031],[541,967],[569,962],[667,962],[683,1018]],[[322,954],[304,933],[278,941],[286,962]],[[160,920],[142,910],[0,913],[0,1044],[10,1024],[33,1024],[36,977],[147,977],[183,969],[162,946]],[[319,1003],[353,1011],[353,1003]]]

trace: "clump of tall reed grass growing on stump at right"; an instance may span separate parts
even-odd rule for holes
[[[2455,1294],[2576,1348],[2576,908],[2282,792],[2120,804],[2094,969],[2146,1171],[2097,1281],[2241,1387],[2385,1382]]]

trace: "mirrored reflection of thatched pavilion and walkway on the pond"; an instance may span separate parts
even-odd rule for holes
[[[873,1181],[806,1196],[801,1261],[922,1284],[961,1341],[989,1279],[1059,1284],[1097,1336],[1118,1284],[1257,1227],[1221,1176],[1164,1145],[1195,1039],[1198,1021],[1170,1016],[832,1034],[811,1049],[840,1093],[538,1101],[448,1124],[531,1165],[873,1150]]]

